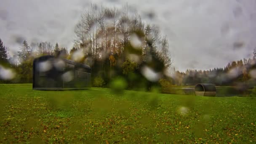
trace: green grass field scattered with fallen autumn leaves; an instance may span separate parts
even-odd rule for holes
[[[254,97],[0,85],[0,143],[256,143]]]

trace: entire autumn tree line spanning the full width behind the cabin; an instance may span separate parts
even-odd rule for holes
[[[224,68],[176,71],[172,66],[168,39],[153,24],[141,20],[136,12],[91,5],[77,22],[72,48],[59,43],[31,43],[26,40],[14,56],[0,40],[0,62],[15,69],[12,81],[2,83],[32,83],[32,61],[37,56],[53,55],[71,59],[92,68],[92,84],[108,87],[115,77],[123,77],[128,88],[152,85],[255,85],[256,51],[252,59],[233,61]],[[8,64],[6,64],[8,63]],[[171,71],[168,69],[171,69]],[[168,86],[169,87],[169,86]]]

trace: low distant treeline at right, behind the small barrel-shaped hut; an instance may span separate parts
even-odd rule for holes
[[[195,85],[197,83],[213,83],[216,85],[234,85],[252,88],[256,85],[256,51],[253,59],[232,61],[224,68],[209,70],[187,69],[186,72],[175,71],[173,84]]]

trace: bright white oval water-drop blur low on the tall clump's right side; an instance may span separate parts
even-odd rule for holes
[[[156,82],[160,79],[160,73],[153,71],[151,68],[144,66],[141,69],[142,75],[152,82]]]

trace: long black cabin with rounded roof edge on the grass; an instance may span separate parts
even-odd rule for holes
[[[91,67],[46,55],[33,61],[34,90],[69,90],[91,87]]]

